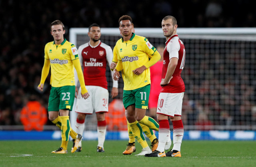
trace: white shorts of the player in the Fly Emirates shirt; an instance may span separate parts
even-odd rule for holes
[[[100,86],[86,86],[89,97],[82,98],[81,87],[78,91],[78,98],[76,101],[76,112],[92,114],[95,112],[108,112],[108,90]]]

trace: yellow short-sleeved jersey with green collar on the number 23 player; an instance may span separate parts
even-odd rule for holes
[[[56,45],[49,42],[44,48],[44,58],[50,60],[53,87],[75,85],[74,66],[72,60],[79,59],[78,50],[66,39]]]

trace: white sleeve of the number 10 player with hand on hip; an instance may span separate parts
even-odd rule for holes
[[[179,59],[179,50],[180,50],[179,38],[178,37],[172,38],[170,42],[167,44],[166,49],[169,52],[169,59],[171,58]]]

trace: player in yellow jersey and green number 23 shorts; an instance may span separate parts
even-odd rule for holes
[[[74,44],[71,44],[64,38],[65,27],[60,20],[55,20],[50,25],[51,34],[54,41],[49,42],[44,48],[44,66],[38,89],[43,91],[44,82],[51,68],[51,84],[48,113],[49,119],[61,129],[62,143],[59,149],[52,153],[68,153],[69,135],[73,138],[73,147],[71,152],[74,153],[78,148],[78,143],[82,139],[70,127],[68,113],[73,107],[75,97],[74,67],[76,68],[78,79],[82,88],[82,97],[88,98],[89,93],[84,84],[84,76],[78,51]]]

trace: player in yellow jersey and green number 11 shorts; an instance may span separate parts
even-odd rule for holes
[[[126,118],[133,135],[143,148],[137,155],[145,155],[152,151],[146,143],[139,123],[156,131],[159,129],[158,123],[146,116],[146,109],[150,93],[149,67],[158,62],[161,56],[146,38],[135,35],[132,29],[132,18],[127,15],[120,17],[119,30],[122,38],[115,46],[118,63],[114,69],[114,80],[120,78],[119,72],[122,71]]]

